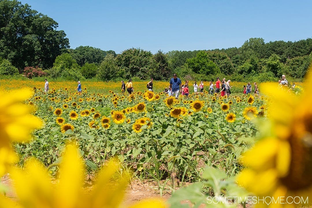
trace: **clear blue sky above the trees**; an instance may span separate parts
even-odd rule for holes
[[[58,22],[72,49],[83,45],[164,53],[312,37],[312,1],[22,0]]]

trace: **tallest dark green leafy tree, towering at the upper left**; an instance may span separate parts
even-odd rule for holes
[[[56,56],[69,48],[58,23],[28,4],[0,0],[0,56],[20,71],[25,66],[51,67]]]

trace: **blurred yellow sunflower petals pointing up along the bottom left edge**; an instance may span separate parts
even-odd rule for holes
[[[84,167],[74,145],[67,145],[60,165],[60,178],[52,183],[46,169],[35,159],[30,159],[25,170],[12,168],[17,200],[12,201],[0,195],[0,207],[57,207],[57,208],[115,208],[119,207],[128,184],[129,174],[123,173],[118,182],[112,178],[120,171],[119,162],[110,160],[98,174],[91,191],[83,190]],[[163,208],[164,203],[158,199],[138,202],[130,206]]]

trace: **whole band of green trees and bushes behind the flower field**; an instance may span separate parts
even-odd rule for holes
[[[91,46],[70,49],[58,23],[28,4],[0,0],[0,75],[102,81],[189,80],[275,81],[282,74],[301,81],[312,61],[312,39],[270,41],[250,38],[239,48],[169,51],[131,48],[116,54]]]

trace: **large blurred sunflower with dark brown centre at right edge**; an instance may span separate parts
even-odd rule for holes
[[[310,71],[312,66],[310,67]],[[312,73],[306,86],[312,85]],[[272,100],[268,117],[271,131],[263,129],[265,137],[244,154],[247,167],[237,177],[238,184],[256,196],[300,197],[306,202],[312,196],[312,102],[310,91],[302,96],[277,87],[262,86]],[[276,90],[272,90],[275,89]],[[292,197],[292,198],[291,198]],[[302,197],[302,198],[301,198]],[[298,198],[297,202],[298,202]],[[286,201],[285,201],[286,202]],[[291,201],[290,201],[291,202]],[[310,201],[311,203],[311,201]],[[301,203],[269,204],[269,207],[295,207]],[[266,203],[256,204],[266,207]]]

